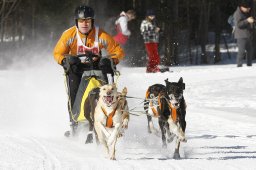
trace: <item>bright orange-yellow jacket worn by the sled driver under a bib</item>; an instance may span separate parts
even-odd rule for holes
[[[60,37],[58,43],[56,44],[53,55],[54,59],[61,64],[64,54],[77,55],[77,29],[76,26],[69,28],[64,31],[62,36]],[[80,37],[86,38],[86,46],[93,47],[95,40],[95,28],[91,30],[91,32],[86,36],[79,32]],[[116,58],[118,60],[123,59],[124,51],[122,48],[115,42],[115,40],[104,32],[102,29],[99,29],[99,49],[105,48],[107,52],[111,54],[115,54],[112,58]]]

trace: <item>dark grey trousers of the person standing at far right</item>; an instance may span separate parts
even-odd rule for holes
[[[252,53],[253,46],[250,38],[239,38],[237,39],[238,53],[237,53],[237,66],[242,66],[243,58],[246,52],[247,65],[252,65]]]

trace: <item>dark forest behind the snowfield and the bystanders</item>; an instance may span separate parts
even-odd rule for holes
[[[51,52],[62,32],[75,24],[74,10],[80,4],[93,7],[96,24],[111,35],[121,11],[136,11],[136,20],[128,25],[132,35],[125,47],[127,66],[145,66],[139,28],[147,9],[155,10],[161,28],[163,65],[219,64],[236,53],[227,21],[238,0],[0,0],[0,68],[42,50]]]

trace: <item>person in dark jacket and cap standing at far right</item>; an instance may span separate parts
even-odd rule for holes
[[[245,54],[247,66],[252,66],[252,31],[255,20],[251,14],[251,7],[251,0],[242,0],[234,13],[235,39],[238,46],[237,67],[242,67]]]

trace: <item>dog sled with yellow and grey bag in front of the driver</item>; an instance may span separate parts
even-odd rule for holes
[[[91,115],[92,104],[89,101],[90,96],[94,96],[97,98],[98,88],[107,83],[113,83],[113,75],[119,74],[118,71],[115,70],[113,61],[110,59],[112,55],[108,56],[98,56],[94,55],[91,52],[87,52],[86,54],[79,55],[65,55],[66,60],[72,59],[72,57],[78,57],[81,60],[81,63],[86,63],[86,67],[80,68],[82,71],[81,82],[76,94],[76,98],[74,100],[73,106],[71,107],[71,99],[69,92],[69,81],[68,76],[66,75],[65,84],[68,93],[68,109],[70,114],[70,119],[72,122],[71,129],[65,132],[65,136],[75,136],[77,132],[78,125],[84,123],[86,121],[89,122],[89,132],[87,135],[86,143],[91,143],[93,139],[93,115]],[[101,62],[103,60],[108,59],[111,64],[111,69],[113,70],[112,74],[103,74],[101,70]],[[95,62],[97,60],[98,62]],[[69,63],[69,62],[67,62]],[[96,64],[95,64],[96,63]],[[71,65],[68,65],[71,67]],[[68,68],[69,69],[69,68]],[[67,69],[67,70],[68,70]]]

